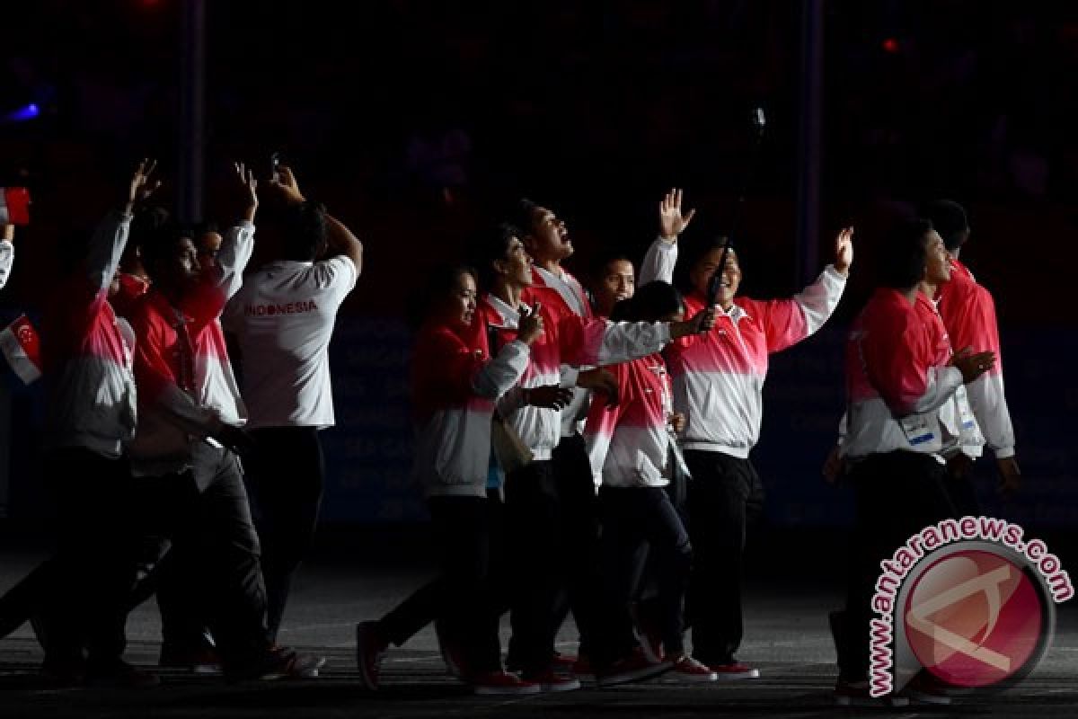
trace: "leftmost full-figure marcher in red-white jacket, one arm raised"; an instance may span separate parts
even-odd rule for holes
[[[152,679],[122,661],[137,559],[129,531],[137,509],[127,462],[136,388],[134,335],[108,300],[132,213],[156,186],[150,181],[153,168],[150,161],[139,164],[123,209],[98,225],[84,258],[53,293],[42,322],[45,475],[61,534],[56,555],[22,587],[36,599],[33,610],[47,627],[43,670],[64,683]]]

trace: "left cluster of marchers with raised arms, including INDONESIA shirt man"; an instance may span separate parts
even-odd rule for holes
[[[245,275],[253,172],[235,166],[222,235],[152,206],[153,170],[139,164],[88,245],[63,247],[70,272],[40,328],[57,550],[0,598],[0,628],[32,621],[50,681],[155,685],[123,653],[128,612],[156,594],[163,666],[317,676],[324,660],[277,632],[317,521],[327,350],[362,245],[280,167],[262,194],[281,241]]]

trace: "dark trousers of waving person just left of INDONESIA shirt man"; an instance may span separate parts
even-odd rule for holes
[[[205,620],[225,673],[243,674],[270,648],[259,538],[236,457],[222,450],[199,461],[205,479],[197,483],[190,471],[136,480],[143,536],[183,557],[163,580],[176,581],[169,596],[177,611]]]

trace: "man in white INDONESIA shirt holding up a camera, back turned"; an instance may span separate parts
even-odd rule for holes
[[[326,475],[318,433],[334,424],[329,345],[337,310],[362,269],[363,245],[303,196],[289,167],[275,165],[270,189],[284,205],[275,208],[281,252],[244,280],[222,320],[239,348],[254,440],[247,481],[276,641],[292,575],[318,522]]]

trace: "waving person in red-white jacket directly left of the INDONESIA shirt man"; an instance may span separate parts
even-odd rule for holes
[[[250,447],[244,404],[218,321],[241,284],[254,243],[257,183],[243,165],[244,209],[212,265],[190,237],[165,225],[142,244],[151,288],[132,313],[140,419],[130,444],[148,530],[197,555],[204,605],[229,679],[315,676],[324,662],[274,647],[266,636],[259,540],[237,454]]]

